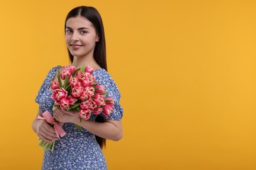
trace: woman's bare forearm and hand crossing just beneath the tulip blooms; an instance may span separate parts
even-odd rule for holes
[[[54,110],[54,118],[62,123],[73,123],[81,126],[91,133],[102,137],[105,139],[110,139],[112,141],[119,141],[123,137],[123,128],[121,126],[121,121],[108,120],[105,122],[94,122],[92,120],[82,120],[80,122],[80,117],[77,112],[61,110],[57,108]]]

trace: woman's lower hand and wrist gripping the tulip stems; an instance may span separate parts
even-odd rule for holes
[[[38,109],[37,116],[42,116],[40,110]],[[37,119],[37,116],[32,122],[33,131],[37,134],[37,136],[47,143],[52,143],[53,140],[58,139],[54,128],[51,127],[45,120]]]

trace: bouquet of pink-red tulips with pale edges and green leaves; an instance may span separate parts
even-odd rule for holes
[[[51,82],[51,90],[53,93],[51,98],[54,100],[53,110],[57,107],[64,110],[75,110],[80,116],[80,122],[88,120],[91,114],[103,114],[107,117],[113,112],[114,99],[106,97],[104,86],[99,85],[95,76],[92,75],[93,69],[89,66],[83,66],[75,69],[74,66],[66,66],[60,73],[58,72],[58,80]],[[54,120],[58,124],[57,120]],[[51,120],[49,124],[57,127],[55,122]],[[58,124],[59,125],[59,124]],[[77,126],[81,131],[81,126]],[[56,131],[56,128],[55,128]],[[60,134],[58,130],[56,134]],[[66,133],[65,133],[66,134]],[[60,134],[60,136],[64,133]],[[54,144],[55,141],[53,141]],[[39,141],[39,145],[48,150],[51,147],[49,143],[45,144]],[[52,147],[53,151],[54,145]]]

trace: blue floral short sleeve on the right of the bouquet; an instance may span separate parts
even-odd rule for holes
[[[106,97],[112,97],[114,99],[114,111],[110,113],[110,116],[106,117],[103,112],[100,113],[100,116],[110,120],[121,120],[123,117],[123,107],[121,107],[119,101],[121,99],[121,94],[117,88],[116,83],[114,82],[113,78],[106,72],[106,74],[102,74],[103,76],[98,84],[101,84],[105,87],[106,92],[108,95]]]

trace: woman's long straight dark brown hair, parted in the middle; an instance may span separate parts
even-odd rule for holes
[[[87,18],[94,26],[96,34],[99,36],[99,41],[96,42],[95,50],[93,52],[93,57],[95,58],[96,63],[100,65],[102,69],[107,69],[106,63],[106,42],[105,42],[105,34],[104,34],[104,27],[103,22],[100,17],[100,13],[94,7],[76,7],[68,13],[65,20],[65,32],[66,32],[66,23],[69,18],[76,17],[76,16],[83,16]],[[74,56],[72,56],[70,50],[68,50],[68,56],[70,57],[70,61],[73,62]],[[96,116],[96,122],[104,122],[104,118],[101,116]],[[102,137],[96,136],[96,141],[100,145],[100,148],[106,146],[106,139]]]

